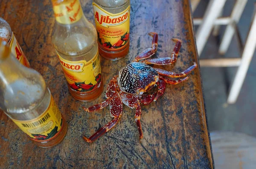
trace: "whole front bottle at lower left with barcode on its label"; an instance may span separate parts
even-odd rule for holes
[[[1,41],[0,109],[37,146],[55,146],[66,135],[67,123],[41,74],[10,56],[9,47]]]

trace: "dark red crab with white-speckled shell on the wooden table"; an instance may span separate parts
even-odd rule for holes
[[[122,115],[122,103],[131,109],[136,109],[135,121],[140,138],[142,139],[143,131],[140,123],[141,105],[148,105],[162,96],[166,89],[166,83],[175,85],[187,80],[188,77],[186,77],[186,75],[197,67],[196,63],[194,63],[185,71],[175,73],[149,66],[148,64],[166,65],[175,63],[181,47],[181,40],[173,38],[172,40],[176,44],[171,57],[148,59],[157,52],[158,40],[157,33],[150,32],[149,35],[153,37],[152,48],[146,49],[136,56],[131,63],[119,71],[119,75],[114,76],[110,80],[106,91],[106,100],[89,108],[82,106],[86,112],[94,112],[110,105],[110,115],[113,118],[113,120],[100,128],[89,138],[84,136],[83,139],[87,143],[92,143],[116,125]],[[169,77],[182,78],[172,80]],[[148,91],[154,86],[158,87],[157,91],[149,94]]]

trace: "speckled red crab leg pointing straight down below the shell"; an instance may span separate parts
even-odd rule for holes
[[[128,93],[121,93],[120,97],[122,99],[122,103],[124,103],[126,106],[130,107],[131,109],[136,108],[135,121],[136,121],[137,128],[139,130],[140,138],[143,138],[143,132],[140,124],[140,115],[141,115],[140,100],[134,95],[131,95]]]

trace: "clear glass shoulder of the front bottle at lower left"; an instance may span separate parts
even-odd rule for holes
[[[5,112],[26,112],[44,97],[46,83],[42,75],[21,65],[15,57],[0,63],[0,74],[1,108]]]

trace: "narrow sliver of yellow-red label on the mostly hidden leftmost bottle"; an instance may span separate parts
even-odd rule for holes
[[[11,40],[9,42],[9,46],[10,46],[10,50],[12,52],[12,54],[15,55],[16,59],[23,64],[26,67],[30,67],[29,65],[29,61],[27,60],[25,54],[23,53],[23,51],[20,48],[19,43],[17,42],[13,32],[12,32],[12,37]]]

